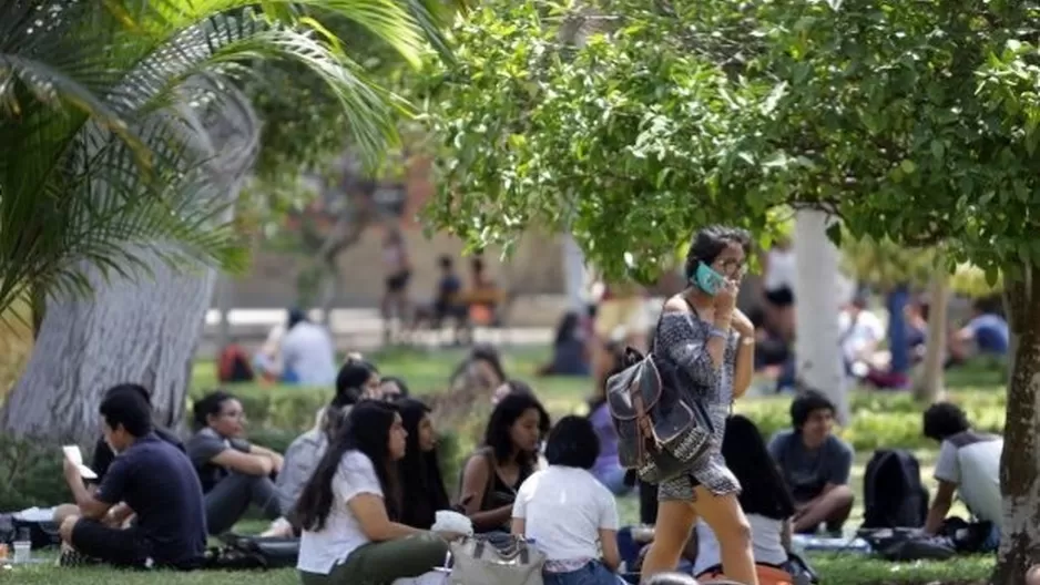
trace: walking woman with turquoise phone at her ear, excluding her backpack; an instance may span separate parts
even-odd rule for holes
[[[741,484],[726,468],[722,438],[734,398],[751,383],[755,330],[736,308],[751,236],[743,229],[712,226],[697,232],[686,254],[686,288],[664,304],[654,333],[655,352],[685,369],[691,398],[707,410],[713,427],[708,455],[657,488],[654,542],[643,562],[643,578],[674,571],[697,517],[716,535],[728,578],[758,585],[751,526],[737,494]]]

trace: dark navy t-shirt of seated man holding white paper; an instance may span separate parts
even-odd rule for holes
[[[112,461],[94,497],[134,511],[135,530],[157,564],[187,565],[205,552],[202,485],[187,455],[155,433]]]

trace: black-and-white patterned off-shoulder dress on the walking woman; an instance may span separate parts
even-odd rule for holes
[[[661,482],[657,500],[695,500],[693,488],[704,485],[715,495],[738,493],[741,483],[726,466],[722,456],[722,438],[726,430],[726,418],[733,403],[733,372],[736,366],[738,336],[731,331],[721,368],[715,368],[707,352],[708,332],[712,325],[689,312],[665,312],[654,337],[654,353],[670,359],[683,368],[697,382],[694,400],[704,404],[712,419],[708,455],[702,458],[690,473]]]

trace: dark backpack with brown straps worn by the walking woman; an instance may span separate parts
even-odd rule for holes
[[[624,363],[606,379],[621,465],[634,469],[645,483],[686,473],[707,454],[714,432],[704,406],[683,390],[693,381],[653,348],[645,356],[625,348]]]

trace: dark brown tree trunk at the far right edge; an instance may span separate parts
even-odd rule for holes
[[[1005,286],[1011,328],[1011,379],[1000,456],[1003,526],[995,585],[1021,585],[1040,563],[1040,274],[1023,267],[1022,280]]]

